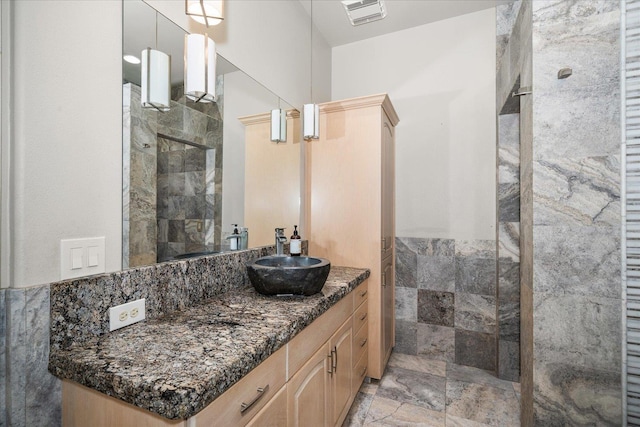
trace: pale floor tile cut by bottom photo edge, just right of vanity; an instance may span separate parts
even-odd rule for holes
[[[444,423],[444,412],[376,396],[371,402],[364,425],[442,427]]]

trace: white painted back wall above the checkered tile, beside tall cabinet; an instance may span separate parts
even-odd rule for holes
[[[495,239],[495,10],[333,49],[332,99],[387,92],[396,235]]]

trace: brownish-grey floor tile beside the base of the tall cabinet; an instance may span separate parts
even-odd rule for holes
[[[445,384],[441,376],[388,366],[376,396],[444,411]]]

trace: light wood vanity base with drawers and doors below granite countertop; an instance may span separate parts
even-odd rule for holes
[[[205,409],[168,420],[63,381],[63,425],[340,426],[362,384],[368,281],[345,296]],[[359,359],[356,359],[358,358]]]

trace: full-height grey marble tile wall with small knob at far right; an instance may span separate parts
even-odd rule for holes
[[[621,425],[619,2],[532,16],[533,422]]]

